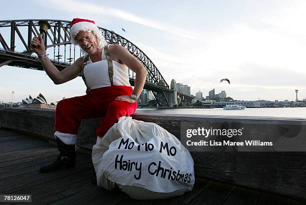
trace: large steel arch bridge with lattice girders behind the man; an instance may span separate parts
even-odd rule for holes
[[[3,65],[43,70],[35,53],[31,50],[30,42],[33,36],[39,35],[38,21],[29,20],[1,20],[0,21],[0,67]],[[78,46],[70,43],[70,22],[66,20],[43,19],[50,28],[43,34],[46,53],[51,62],[62,70],[69,66],[82,53]],[[102,27],[99,27],[109,44],[120,44],[134,55],[145,67],[148,74],[144,89],[151,90],[159,106],[170,106],[171,99],[176,92],[170,89],[160,71],[150,58],[132,42],[123,36]],[[128,69],[129,81],[134,85],[135,73]],[[174,96],[172,96],[174,94]],[[182,99],[191,100],[193,97],[177,92]]]

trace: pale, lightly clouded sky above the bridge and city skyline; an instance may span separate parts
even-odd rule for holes
[[[306,98],[305,0],[10,0],[1,5],[13,9],[2,9],[0,20],[92,19],[138,46],[168,84],[171,79],[188,84],[194,95],[214,88],[240,100],[294,100],[298,89],[298,98]],[[230,84],[219,82],[225,77]],[[81,77],[54,85],[44,71],[4,65],[0,101],[10,101],[12,91],[14,102],[41,92],[49,103],[83,95],[85,85]]]

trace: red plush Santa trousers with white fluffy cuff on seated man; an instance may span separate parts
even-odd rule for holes
[[[102,117],[96,134],[99,137],[104,136],[107,130],[121,116],[129,116],[134,113],[137,103],[115,100],[117,96],[130,95],[133,89],[130,86],[113,85],[92,89],[88,94],[60,100],[56,105],[55,111],[55,136],[69,138],[70,135],[75,138],[74,142],[62,140],[67,144],[75,144],[77,128],[80,121],[85,118]]]

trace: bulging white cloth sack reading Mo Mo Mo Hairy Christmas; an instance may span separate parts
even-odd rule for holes
[[[97,139],[92,162],[98,186],[118,185],[133,198],[181,195],[194,184],[193,160],[180,141],[155,123],[131,117],[120,117]]]

